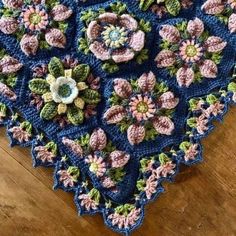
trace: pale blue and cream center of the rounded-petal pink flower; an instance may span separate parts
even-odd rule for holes
[[[124,27],[109,25],[104,27],[102,32],[104,43],[107,47],[120,48],[128,40],[127,32]]]

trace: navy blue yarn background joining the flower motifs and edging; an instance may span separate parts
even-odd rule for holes
[[[6,120],[0,122],[0,126],[7,127],[7,135],[11,141],[11,146],[20,145],[23,147],[30,146],[32,148],[31,154],[33,159],[33,166],[45,166],[55,168],[54,172],[54,189],[63,189],[64,191],[75,193],[75,204],[78,208],[79,214],[95,214],[101,213],[104,218],[105,224],[112,230],[122,233],[124,235],[130,234],[134,229],[142,224],[144,218],[144,208],[145,205],[151,201],[154,201],[162,192],[164,188],[162,187],[163,181],[173,181],[175,175],[178,174],[179,166],[184,165],[194,165],[203,160],[202,158],[202,138],[206,137],[213,129],[214,125],[212,122],[214,120],[222,121],[223,116],[229,109],[229,105],[233,104],[232,92],[228,92],[226,96],[220,97],[219,102],[224,104],[224,109],[221,114],[217,116],[211,116],[208,120],[208,130],[204,134],[199,134],[196,129],[190,130],[187,121],[189,118],[198,117],[198,113],[191,112],[189,110],[189,100],[192,98],[206,98],[208,94],[219,95],[220,90],[227,90],[228,84],[232,81],[231,74],[233,67],[235,66],[236,58],[236,34],[230,34],[227,27],[221,23],[215,16],[206,15],[202,10],[201,6],[205,2],[194,1],[194,4],[181,12],[176,17],[171,17],[166,14],[163,18],[159,19],[150,10],[143,12],[139,8],[138,1],[122,0],[120,2],[127,4],[127,12],[133,14],[137,19],[144,19],[151,23],[151,31],[146,33],[145,48],[149,49],[148,60],[144,61],[139,65],[135,61],[128,63],[123,63],[119,67],[119,71],[109,74],[102,69],[102,62],[96,59],[96,57],[90,53],[85,55],[83,52],[78,50],[78,39],[84,34],[83,28],[84,23],[81,21],[81,14],[88,10],[99,10],[100,8],[108,8],[111,3],[117,1],[110,0],[87,0],[83,1],[73,1],[73,0],[62,0],[61,4],[70,7],[73,10],[73,15],[68,20],[68,29],[66,30],[66,47],[64,49],[52,48],[49,50],[38,50],[35,56],[26,56],[21,48],[19,41],[16,40],[14,36],[6,35],[0,31],[0,48],[4,48],[6,52],[18,59],[24,66],[17,74],[17,83],[14,87],[14,92],[17,95],[17,101],[10,101],[5,96],[0,94],[0,103],[7,106],[8,113],[14,114],[18,112],[20,116],[29,121],[33,126],[33,139],[20,143],[13,138],[12,133],[9,131],[13,126],[19,126],[20,122],[18,120],[11,120],[11,117],[7,117]],[[0,3],[0,8],[2,7]],[[161,51],[159,45],[161,42],[161,37],[159,35],[159,30],[164,24],[175,25],[176,23],[182,22],[183,20],[192,20],[198,17],[204,22],[205,29],[209,31],[210,35],[218,36],[222,38],[223,41],[227,42],[227,46],[224,49],[222,55],[221,63],[218,65],[218,74],[215,79],[203,79],[201,83],[194,83],[189,88],[180,87],[177,83],[176,77],[170,76],[167,69],[157,68],[155,58],[156,55]],[[97,115],[92,116],[87,119],[83,124],[79,126],[66,125],[65,128],[61,129],[59,124],[46,121],[40,118],[39,112],[34,106],[30,105],[30,94],[31,91],[28,88],[29,81],[33,78],[32,69],[38,65],[48,64],[52,57],[58,57],[63,59],[66,55],[71,55],[72,58],[78,59],[80,63],[88,64],[91,67],[92,74],[95,77],[100,77],[101,86],[100,94],[102,95],[102,101],[97,106]],[[114,90],[113,84],[114,79],[123,78],[128,81],[132,78],[139,78],[143,73],[152,71],[157,81],[164,82],[169,91],[172,91],[176,97],[179,98],[179,104],[175,109],[172,121],[175,124],[175,130],[172,135],[164,136],[159,135],[154,140],[144,141],[138,145],[131,145],[127,139],[126,133],[122,133],[118,126],[108,125],[103,119],[104,112],[110,108],[109,98]],[[71,149],[66,147],[62,138],[67,137],[72,140],[77,140],[81,136],[86,134],[91,134],[93,130],[97,127],[102,128],[108,140],[116,146],[118,150],[125,151],[131,155],[131,159],[125,166],[125,176],[117,184],[117,191],[114,192],[111,189],[105,188],[99,178],[89,170],[89,166],[83,161],[83,159],[78,158],[78,155],[72,152]],[[191,137],[186,137],[186,132],[192,132]],[[44,139],[38,139],[38,135],[44,133]],[[54,163],[43,163],[37,159],[37,153],[35,152],[36,146],[45,146],[47,141],[53,141],[58,146],[58,155],[55,158]],[[184,151],[179,149],[179,144],[184,141],[189,141],[193,144],[198,144],[198,154],[194,160],[186,161],[184,160]],[[158,185],[156,187],[156,192],[151,196],[151,199],[147,199],[145,192],[139,195],[139,200],[134,202],[134,193],[136,190],[136,183],[143,177],[148,178],[149,175],[143,174],[140,171],[140,160],[142,158],[149,158],[157,156],[158,154],[165,152],[167,147],[173,147],[173,149],[178,149],[175,156],[172,157],[172,162],[176,165],[175,173],[171,176],[161,177],[158,180]],[[67,161],[63,161],[62,157],[67,156]],[[159,162],[155,163],[158,166],[161,164]],[[60,181],[60,176],[58,171],[62,169],[67,169],[69,166],[79,167],[81,173],[81,181],[86,181],[90,179],[94,188],[100,191],[102,197],[107,200],[111,200],[117,205],[123,205],[129,202],[134,203],[135,207],[141,209],[140,217],[130,227],[119,228],[117,225],[113,225],[111,220],[108,219],[108,215],[114,212],[114,209],[107,208],[105,202],[99,205],[99,208],[95,210],[87,211],[81,206],[78,197],[83,191],[83,187],[78,183],[73,187],[65,187]],[[89,190],[86,190],[87,193]]]

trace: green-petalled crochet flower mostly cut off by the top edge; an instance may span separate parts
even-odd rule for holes
[[[149,8],[159,18],[162,18],[165,14],[177,16],[181,9],[187,9],[192,4],[192,0],[139,0],[139,7],[146,11]]]

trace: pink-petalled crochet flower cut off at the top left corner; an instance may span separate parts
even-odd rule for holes
[[[53,1],[4,0],[3,4],[0,30],[15,35],[27,56],[35,55],[38,48],[65,47],[71,9]]]

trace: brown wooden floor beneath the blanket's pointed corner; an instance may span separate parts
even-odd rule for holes
[[[236,235],[236,108],[203,141],[205,162],[183,168],[146,207],[135,236]],[[52,190],[52,170],[31,165],[29,150],[9,148],[0,129],[1,236],[110,236],[102,218],[78,217],[72,194]]]

